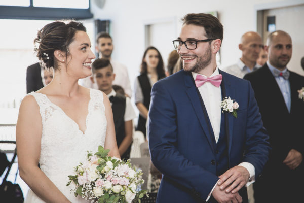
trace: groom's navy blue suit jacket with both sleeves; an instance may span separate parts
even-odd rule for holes
[[[257,178],[270,147],[253,90],[248,81],[220,73],[226,96],[239,104],[238,118],[231,113],[227,117],[230,166],[249,162]],[[153,164],[163,173],[158,202],[204,201],[219,179],[210,162],[215,151],[192,77],[181,70],[151,91],[149,149]]]

